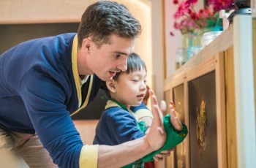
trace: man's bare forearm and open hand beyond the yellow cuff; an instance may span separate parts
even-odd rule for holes
[[[165,144],[166,134],[162,124],[163,116],[157,104],[157,97],[151,93],[151,107],[154,119],[145,137],[116,146],[99,145],[98,167],[122,167],[136,161]]]

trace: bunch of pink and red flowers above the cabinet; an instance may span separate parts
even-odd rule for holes
[[[218,11],[230,9],[234,0],[208,0],[205,9],[196,11],[194,5],[198,0],[173,0],[178,6],[173,15],[173,28],[181,31],[181,34],[195,34],[200,28],[210,28],[219,25]],[[173,36],[173,32],[171,32]]]

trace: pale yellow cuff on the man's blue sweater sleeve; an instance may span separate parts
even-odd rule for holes
[[[83,145],[79,158],[80,168],[97,168],[99,145]]]

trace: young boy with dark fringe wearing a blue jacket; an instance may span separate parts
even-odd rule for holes
[[[146,95],[146,65],[136,53],[128,57],[127,71],[118,72],[113,80],[105,83],[111,99],[96,129],[94,144],[118,145],[123,142],[143,137],[147,129],[144,121],[138,120],[131,106],[138,106]],[[182,128],[179,129],[181,131]],[[185,136],[186,137],[186,136]],[[143,160],[133,162],[125,167],[143,167]]]

